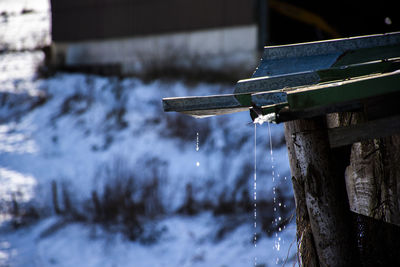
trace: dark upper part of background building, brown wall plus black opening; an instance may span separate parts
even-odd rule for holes
[[[266,1],[265,5],[260,2]],[[274,1],[305,9],[324,19],[339,37],[400,30],[396,1]],[[207,28],[260,24],[268,0],[51,0],[52,38],[84,41]],[[390,24],[385,18],[391,19]],[[268,44],[333,38],[314,25],[270,8],[265,14]],[[264,44],[260,44],[262,47]]]

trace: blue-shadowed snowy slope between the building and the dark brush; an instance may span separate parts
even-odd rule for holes
[[[8,86],[7,81],[4,84]],[[144,178],[147,170],[143,165],[157,160],[159,165],[153,167],[165,169],[165,200],[170,201],[167,206],[174,210],[182,204],[187,183],[193,185],[199,197],[215,202],[215,197],[231,187],[243,168],[254,164],[254,126],[247,113],[198,121],[162,112],[162,97],[192,92],[210,94],[232,88],[187,88],[181,82],[143,84],[136,79],[116,81],[78,74],[59,74],[47,80],[32,80],[24,86],[19,97],[45,95],[47,101],[26,111],[18,121],[10,119],[2,124],[5,138],[0,143],[0,160],[4,169],[37,177],[44,187],[52,180],[67,179],[73,191],[87,195],[101,182],[97,181],[98,169],[115,158],[122,158]],[[120,98],[116,96],[118,90]],[[18,108],[4,110],[2,117]],[[116,114],[121,110],[124,116],[118,118]],[[282,128],[276,126],[272,130],[279,140]],[[258,135],[258,146],[264,148],[259,149],[263,164],[259,164],[258,172],[270,173],[267,128],[259,127]],[[277,162],[282,165],[278,169],[286,175],[285,153],[284,147],[275,151]],[[260,196],[271,198],[270,177],[259,177],[259,188],[264,190]],[[210,187],[210,183],[215,185]]]

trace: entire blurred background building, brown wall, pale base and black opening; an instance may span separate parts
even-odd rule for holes
[[[264,45],[398,29],[393,1],[51,0],[51,62],[134,74],[167,60],[254,69]]]

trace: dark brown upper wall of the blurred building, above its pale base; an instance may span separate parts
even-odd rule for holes
[[[254,24],[251,0],[51,0],[51,8],[56,42]]]

